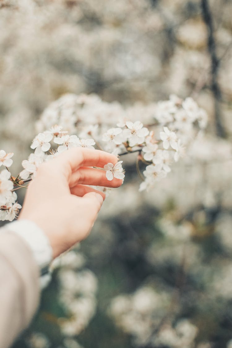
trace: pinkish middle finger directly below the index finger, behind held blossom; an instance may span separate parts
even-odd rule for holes
[[[72,188],[77,184],[119,187],[122,184],[122,180],[113,178],[113,180],[109,181],[106,178],[105,171],[91,167],[81,167],[72,173],[69,186]]]

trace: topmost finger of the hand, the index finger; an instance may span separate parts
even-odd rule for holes
[[[109,152],[87,148],[73,148],[62,152],[53,161],[53,166],[61,169],[69,179],[72,172],[80,167],[104,167],[107,163],[116,164],[118,158]],[[51,163],[50,162],[50,163]]]

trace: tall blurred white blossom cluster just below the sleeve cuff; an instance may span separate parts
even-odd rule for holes
[[[58,324],[67,337],[83,331],[96,311],[97,278],[84,265],[83,254],[73,250],[52,264],[52,268],[59,269],[59,301],[68,313],[68,317],[58,318]]]

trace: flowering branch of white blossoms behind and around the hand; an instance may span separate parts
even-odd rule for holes
[[[138,111],[139,110],[139,111]],[[138,113],[146,125],[136,120]],[[181,100],[171,95],[168,101],[148,106],[123,108],[119,103],[106,103],[96,95],[67,94],[53,102],[37,122],[39,134],[34,137],[23,170],[13,177],[8,167],[13,153],[0,151],[0,219],[13,220],[21,206],[14,192],[25,187],[36,175],[39,166],[71,148],[99,149],[124,156],[137,152],[144,167],[139,191],[149,190],[171,171],[171,164],[185,153],[198,132],[207,125],[206,112],[192,98]],[[73,134],[75,133],[75,134]],[[122,161],[106,163],[106,178],[124,179]],[[104,190],[104,189],[103,189]]]

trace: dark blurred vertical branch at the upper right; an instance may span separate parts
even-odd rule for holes
[[[222,123],[221,110],[220,110],[220,101],[222,99],[222,93],[220,86],[217,81],[218,68],[219,68],[219,59],[216,53],[216,44],[214,38],[214,27],[213,27],[213,18],[210,12],[208,0],[201,0],[202,8],[202,17],[205,21],[208,30],[208,51],[211,58],[211,89],[214,94],[214,110],[215,110],[215,126],[216,133],[220,137],[225,137],[226,132]]]

